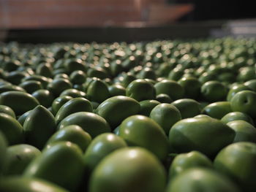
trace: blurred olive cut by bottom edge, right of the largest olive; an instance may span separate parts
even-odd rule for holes
[[[227,177],[210,169],[188,169],[172,180],[167,192],[239,192]]]

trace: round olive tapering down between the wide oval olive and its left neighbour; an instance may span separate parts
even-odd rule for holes
[[[159,104],[151,111],[149,118],[156,121],[165,134],[169,134],[173,124],[181,120],[181,113],[173,104]]]

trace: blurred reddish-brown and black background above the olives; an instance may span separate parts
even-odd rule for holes
[[[0,40],[254,37],[254,18],[254,3],[249,0],[0,0]]]

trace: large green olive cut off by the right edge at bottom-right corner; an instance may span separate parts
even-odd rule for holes
[[[217,171],[227,175],[245,192],[256,191],[256,144],[237,142],[228,145],[214,159]]]

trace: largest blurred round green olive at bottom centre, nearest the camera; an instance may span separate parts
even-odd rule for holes
[[[162,164],[148,150],[127,147],[106,156],[94,169],[89,192],[165,191]]]

